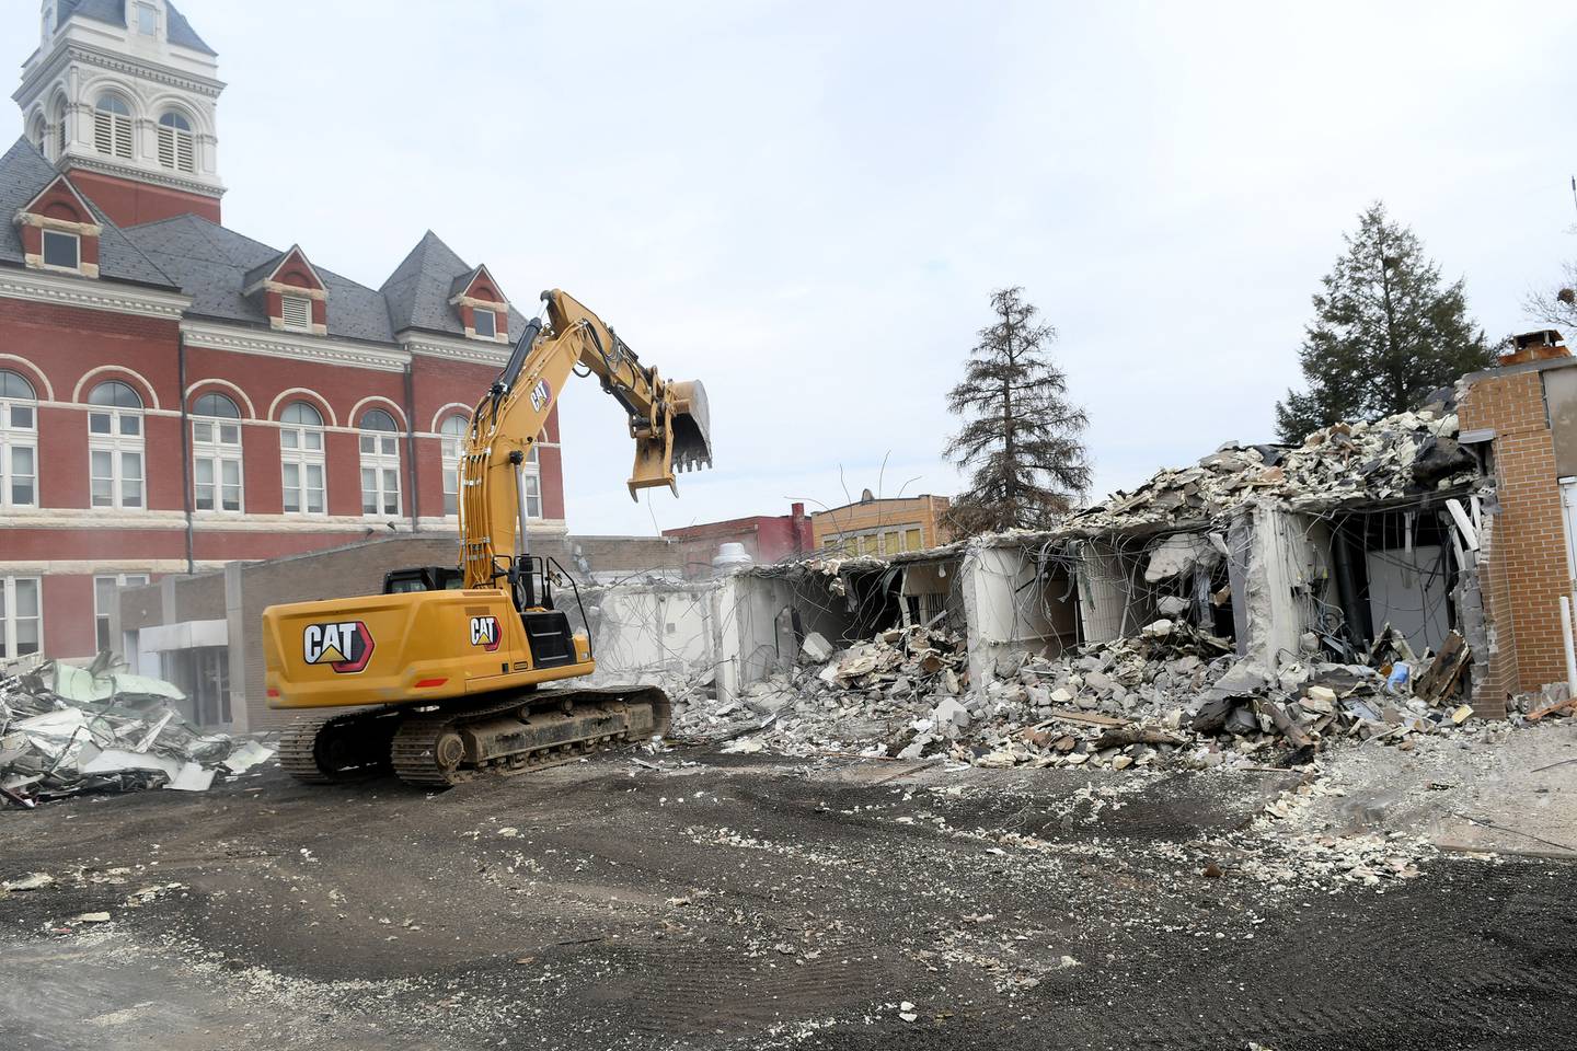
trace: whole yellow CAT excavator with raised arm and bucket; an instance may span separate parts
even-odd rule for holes
[[[281,766],[331,783],[393,767],[412,785],[519,774],[598,745],[667,733],[656,687],[550,687],[596,670],[560,597],[580,592],[531,555],[525,463],[571,375],[595,375],[629,416],[629,495],[675,493],[675,468],[711,465],[706,392],[662,380],[591,310],[542,293],[503,372],[476,403],[459,468],[459,566],[396,569],[383,594],[263,610],[268,706],[341,709],[282,734]],[[582,372],[583,370],[583,372]],[[585,610],[580,610],[585,624]],[[342,711],[352,709],[352,711]]]

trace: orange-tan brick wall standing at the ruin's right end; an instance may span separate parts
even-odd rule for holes
[[[1481,586],[1497,657],[1474,695],[1490,714],[1508,693],[1566,678],[1560,597],[1571,594],[1571,577],[1542,369],[1474,380],[1459,419],[1463,430],[1495,432],[1500,511],[1487,529],[1490,550],[1481,551]]]

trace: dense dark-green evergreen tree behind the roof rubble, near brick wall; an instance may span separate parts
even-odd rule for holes
[[[1443,284],[1418,236],[1383,203],[1344,240],[1347,254],[1314,296],[1315,318],[1298,351],[1307,391],[1276,403],[1282,441],[1344,419],[1404,413],[1493,364],[1484,331],[1467,315],[1462,280]]]

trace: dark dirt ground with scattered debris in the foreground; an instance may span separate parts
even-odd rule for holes
[[[1322,868],[1265,829],[1299,783],[675,750],[77,796],[0,813],[0,1046],[1574,1045],[1577,868]]]

